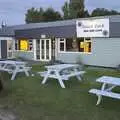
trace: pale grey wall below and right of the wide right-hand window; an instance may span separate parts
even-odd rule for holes
[[[117,67],[120,64],[120,38],[93,38],[92,53],[58,53],[58,60],[104,67]]]

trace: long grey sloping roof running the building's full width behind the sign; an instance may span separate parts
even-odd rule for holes
[[[76,20],[86,20],[86,19],[92,20],[92,19],[101,19],[101,18],[110,18],[110,22],[120,22],[120,15],[113,15],[113,16],[100,16],[100,17],[79,18],[79,19],[72,19],[72,20],[62,20],[62,21],[55,21],[55,22],[22,24],[22,25],[7,26],[4,29],[0,29],[0,36],[14,36],[16,30],[69,26],[69,25],[75,25]]]

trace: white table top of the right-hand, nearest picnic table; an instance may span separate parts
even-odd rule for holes
[[[112,84],[116,86],[120,86],[120,78],[110,77],[110,76],[102,76],[96,80],[97,82]]]

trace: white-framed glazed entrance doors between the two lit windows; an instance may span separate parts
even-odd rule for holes
[[[40,60],[51,60],[51,39],[40,39]]]

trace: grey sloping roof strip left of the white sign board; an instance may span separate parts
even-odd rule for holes
[[[46,22],[46,23],[31,23],[31,24],[7,26],[3,29],[0,29],[0,36],[14,36],[16,30],[68,26],[68,25],[75,25],[75,24],[76,24],[75,20],[66,20],[66,21],[56,21],[56,22]]]

